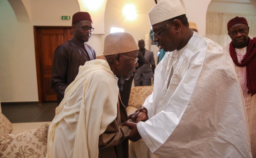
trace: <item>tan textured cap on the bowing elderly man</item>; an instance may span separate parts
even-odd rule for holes
[[[138,45],[128,32],[114,32],[105,37],[103,52],[105,56],[136,50],[139,50]]]

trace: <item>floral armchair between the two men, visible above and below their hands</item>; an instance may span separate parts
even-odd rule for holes
[[[127,114],[134,113],[140,109],[145,99],[153,92],[153,86],[137,86],[131,89],[130,98],[127,107]],[[129,141],[129,158],[148,158],[148,147],[140,139],[139,141]]]

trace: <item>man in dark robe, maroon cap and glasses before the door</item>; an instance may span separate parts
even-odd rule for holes
[[[93,21],[88,12],[77,12],[72,17],[72,39],[56,48],[52,64],[52,90],[58,104],[64,98],[68,85],[74,81],[79,66],[96,58],[95,51],[86,42],[92,35]]]

